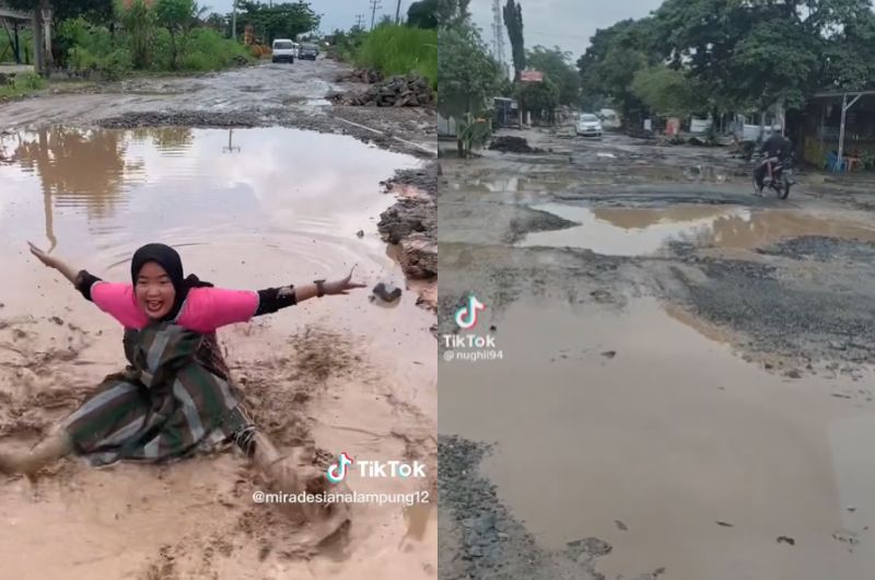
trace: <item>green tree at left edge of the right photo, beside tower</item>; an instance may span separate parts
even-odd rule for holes
[[[438,59],[438,111],[457,121],[459,156],[465,158],[470,142],[463,131],[470,131],[474,117],[489,108],[501,78],[498,62],[487,51],[480,35],[469,22],[439,31],[441,51]]]

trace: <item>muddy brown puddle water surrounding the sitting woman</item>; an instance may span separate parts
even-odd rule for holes
[[[3,415],[10,437],[2,443],[30,443],[27,425],[45,427],[69,410],[28,405],[40,393],[82,393],[124,364],[117,324],[36,263],[27,240],[119,281],[129,279],[133,250],[161,241],[179,248],[187,271],[222,287],[306,283],[342,276],[353,264],[369,287],[405,286],[376,231],[394,202],[378,182],[418,166],[413,158],[289,129],[59,128],[4,136],[2,146],[14,161],[0,164],[0,392],[5,410],[24,413]],[[395,309],[376,308],[369,293],[313,300],[220,336],[238,372],[273,388],[319,382],[283,366],[294,352],[291,337],[307,328],[341,337],[343,344],[312,343],[314,356],[337,351],[348,367],[314,387],[304,409],[316,444],[428,463],[435,456],[434,316],[416,306],[416,292]],[[36,487],[2,479],[0,557],[9,573],[32,578],[434,576],[436,515],[428,508],[354,506],[342,555],[304,560],[294,557],[294,534],[253,504],[252,485],[233,455],[167,468],[95,471],[72,462]],[[411,492],[428,483],[353,474],[350,487]]]

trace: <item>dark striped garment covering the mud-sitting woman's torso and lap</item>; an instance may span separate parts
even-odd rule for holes
[[[63,421],[78,454],[107,465],[167,461],[230,441],[250,451],[255,428],[215,333],[155,323],[126,329],[124,346],[128,368]]]

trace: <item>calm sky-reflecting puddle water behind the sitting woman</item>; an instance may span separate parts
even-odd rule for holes
[[[387,263],[372,219],[393,199],[378,195],[378,182],[418,165],[349,137],[279,128],[40,129],[4,136],[3,147],[14,159],[0,167],[4,231],[36,242],[44,231],[68,255],[126,256],[147,240],[230,241],[260,230],[314,265],[325,264],[314,243],[320,256],[366,248]],[[354,239],[362,229],[369,235]]]

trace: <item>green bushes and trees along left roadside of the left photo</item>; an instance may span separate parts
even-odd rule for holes
[[[269,55],[271,40],[295,38],[318,28],[319,16],[307,2],[241,0],[237,30],[230,14],[208,14],[196,0],[50,0],[54,14],[51,51],[45,70],[62,70],[98,80],[142,73],[208,72],[243,66]],[[32,10],[46,0],[8,0]],[[14,63],[10,33],[0,31],[0,62]],[[20,34],[20,60],[35,65],[33,36]],[[8,47],[8,48],[7,48]],[[19,93],[36,86],[16,81]],[[35,90],[35,89],[33,89]]]

